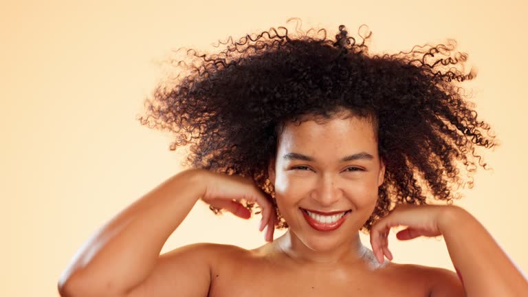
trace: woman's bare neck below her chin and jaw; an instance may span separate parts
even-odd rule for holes
[[[336,267],[336,265],[358,265],[369,252],[360,240],[359,232],[335,248],[320,251],[312,250],[301,241],[291,230],[275,239],[273,244],[277,250],[293,259],[298,265],[318,267]]]

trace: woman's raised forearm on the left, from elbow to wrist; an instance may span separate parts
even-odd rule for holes
[[[102,226],[61,275],[61,296],[125,296],[144,283],[155,267],[182,259],[189,249],[162,257],[159,252],[205,191],[196,173],[185,170],[170,177]],[[193,252],[199,254],[199,250]],[[197,272],[197,281],[208,282],[204,270]]]

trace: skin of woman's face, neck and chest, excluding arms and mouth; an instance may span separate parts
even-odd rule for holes
[[[340,162],[361,152],[373,158]],[[287,153],[315,161],[284,159]],[[289,230],[250,251],[217,247],[222,256],[212,264],[210,296],[387,296],[391,292],[391,296],[423,297],[430,296],[435,285],[445,290],[445,295],[435,296],[463,296],[454,272],[389,261],[380,265],[360,242],[359,230],[374,210],[385,170],[369,121],[335,118],[326,124],[289,124],[277,156],[270,163],[270,180]],[[299,207],[352,212],[337,230],[320,232],[307,224]]]

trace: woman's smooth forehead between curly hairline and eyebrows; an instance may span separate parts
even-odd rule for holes
[[[350,116],[348,118],[331,118],[306,120],[305,122],[288,123],[278,143],[280,154],[291,151],[318,153],[340,153],[353,151],[377,151],[377,140],[373,123],[367,118]]]

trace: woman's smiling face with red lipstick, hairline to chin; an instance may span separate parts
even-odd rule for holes
[[[384,173],[373,124],[357,117],[288,124],[269,170],[289,231],[320,251],[358,234],[375,208]]]

